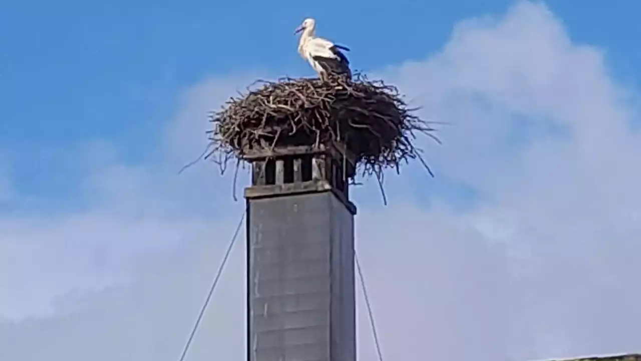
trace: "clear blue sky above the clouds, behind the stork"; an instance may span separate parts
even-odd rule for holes
[[[5,1],[1,148],[18,164],[13,177],[21,192],[73,197],[72,179],[51,181],[74,172],[56,154],[100,139],[113,141],[126,163],[153,159],[158,144],[150,134],[176,112],[179,91],[203,76],[254,69],[308,75],[292,35],[306,16],[317,18],[322,35],[354,49],[354,67],[372,70],[423,59],[457,19],[510,3]],[[638,84],[641,50],[631,39],[640,32],[634,14],[641,5],[547,4],[575,41],[606,46],[617,78]]]

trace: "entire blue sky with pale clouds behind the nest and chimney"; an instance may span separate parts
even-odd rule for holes
[[[312,74],[307,16],[449,123],[421,140],[436,179],[354,190],[384,357],[641,351],[638,5],[419,3],[1,1],[0,360],[178,360],[247,178],[177,171],[208,110]],[[244,357],[243,248],[188,360]]]

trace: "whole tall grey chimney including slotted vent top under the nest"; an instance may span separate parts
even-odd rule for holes
[[[249,361],[356,361],[353,165],[337,154],[246,156]]]

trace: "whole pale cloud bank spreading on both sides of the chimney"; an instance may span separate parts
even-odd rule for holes
[[[428,145],[430,160],[482,195],[463,214],[447,204],[360,210],[385,357],[641,349],[641,143],[601,52],[572,42],[544,5],[520,2],[461,22],[440,53],[385,76],[452,123],[444,146]],[[174,172],[202,150],[199,119],[250,78],[187,92],[160,166],[104,160],[86,182],[96,209],[0,221],[0,288],[10,290],[0,294],[1,359],[177,359],[242,202],[212,167]],[[416,172],[410,182],[424,179]],[[189,360],[244,357],[242,262],[238,247]],[[363,360],[376,357],[368,327],[360,312]]]

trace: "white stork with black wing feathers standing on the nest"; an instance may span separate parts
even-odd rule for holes
[[[344,46],[336,45],[333,42],[314,36],[316,21],[308,18],[296,29],[296,33],[303,31],[301,40],[298,42],[298,52],[306,59],[313,69],[323,80],[329,73],[347,75],[351,78],[352,72],[349,69],[349,60],[340,51],[349,51]]]

